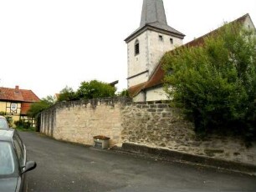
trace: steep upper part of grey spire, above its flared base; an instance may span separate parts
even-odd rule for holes
[[[162,0],[143,0],[140,27],[142,28],[150,23],[167,25],[166,12]]]

